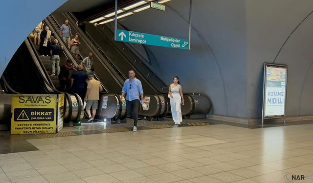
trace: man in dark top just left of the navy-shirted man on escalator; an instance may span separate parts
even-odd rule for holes
[[[62,92],[65,92],[67,90],[69,90],[70,87],[70,81],[68,79],[69,76],[69,71],[70,70],[75,70],[76,68],[73,66],[72,61],[71,60],[67,60],[66,63],[64,63],[61,68],[60,68],[60,74],[58,76],[59,82],[60,82],[60,88],[59,90]]]

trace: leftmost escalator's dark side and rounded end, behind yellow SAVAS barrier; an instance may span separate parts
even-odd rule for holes
[[[38,56],[35,46],[27,38],[3,72],[1,83],[2,85],[7,85],[5,93],[61,93],[55,87],[58,85],[58,80],[51,80],[47,71],[47,68],[51,68],[51,64],[43,63],[41,58],[45,60],[43,56]],[[9,88],[11,88],[11,91],[8,91]],[[77,105],[73,106],[74,102]],[[83,103],[77,94],[65,93],[64,121],[77,122],[81,120],[83,117],[82,107]]]

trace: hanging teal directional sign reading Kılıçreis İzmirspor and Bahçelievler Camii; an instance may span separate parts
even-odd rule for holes
[[[117,41],[163,46],[178,49],[189,49],[189,41],[185,39],[145,34],[117,29]]]

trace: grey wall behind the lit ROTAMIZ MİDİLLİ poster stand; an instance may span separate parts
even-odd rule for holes
[[[286,115],[313,114],[312,11],[312,0],[246,0],[247,118],[261,117],[264,62],[288,65]]]

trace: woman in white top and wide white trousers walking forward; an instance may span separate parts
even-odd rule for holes
[[[171,111],[173,120],[175,124],[180,125],[180,122],[182,122],[180,103],[184,105],[184,96],[182,95],[182,87],[179,84],[179,79],[177,76],[173,77],[173,82],[174,83],[169,86],[168,98],[171,99]]]

